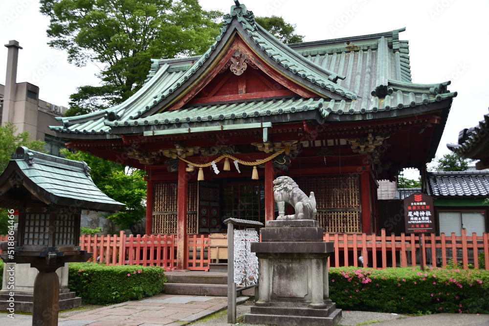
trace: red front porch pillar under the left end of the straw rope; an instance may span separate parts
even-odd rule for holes
[[[178,162],[178,208],[177,208],[177,269],[185,269],[187,249],[187,172],[184,161]]]

